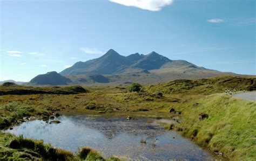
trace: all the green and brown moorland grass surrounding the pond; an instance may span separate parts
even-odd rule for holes
[[[91,86],[86,87],[86,92],[75,94],[54,92],[57,89],[70,91],[73,87],[0,86],[0,93],[19,89],[53,91],[50,94],[25,93],[26,95],[22,95],[21,93],[21,95],[0,96],[0,128],[9,127],[23,117],[41,117],[41,114],[52,113],[54,110],[66,115],[100,113],[99,115],[104,116],[131,116],[133,118],[154,117],[172,120],[175,118],[176,123],[165,125],[166,129],[176,130],[212,152],[223,153],[228,159],[253,160],[256,158],[256,104],[220,94],[224,93],[225,89],[255,90],[255,78],[220,76],[210,79],[175,80],[159,85],[144,86],[142,92],[127,92],[129,86]],[[157,95],[158,93],[163,93],[163,96]],[[171,108],[175,109],[173,113],[169,111]],[[199,121],[199,114],[203,113],[208,117]],[[23,144],[19,147],[22,150],[10,148],[9,144],[3,141],[8,137],[15,138],[9,134],[0,135],[1,157],[24,157],[31,155],[31,151],[36,152],[39,157],[45,155],[44,150],[38,152],[35,148],[24,148]],[[38,141],[33,142],[36,146]],[[50,145],[42,143],[41,146],[45,149],[43,147]],[[26,153],[24,149],[29,150],[30,153]],[[68,152],[62,150],[56,152],[58,157],[72,158]],[[93,150],[89,152],[84,150],[72,159],[82,158],[104,160]],[[112,160],[115,159],[117,158],[112,158]]]

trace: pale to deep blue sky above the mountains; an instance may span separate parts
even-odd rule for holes
[[[113,48],[256,75],[256,1],[0,0],[0,80],[30,81]]]

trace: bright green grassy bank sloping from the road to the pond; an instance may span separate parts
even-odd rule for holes
[[[256,158],[256,103],[214,94],[186,106],[182,120],[172,128],[197,144],[232,160]],[[199,121],[199,114],[207,114]]]

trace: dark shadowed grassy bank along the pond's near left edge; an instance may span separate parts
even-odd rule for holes
[[[96,151],[83,147],[77,155],[63,149],[56,148],[43,141],[16,137],[0,132],[0,160],[113,160],[120,159],[110,157],[104,159]]]

